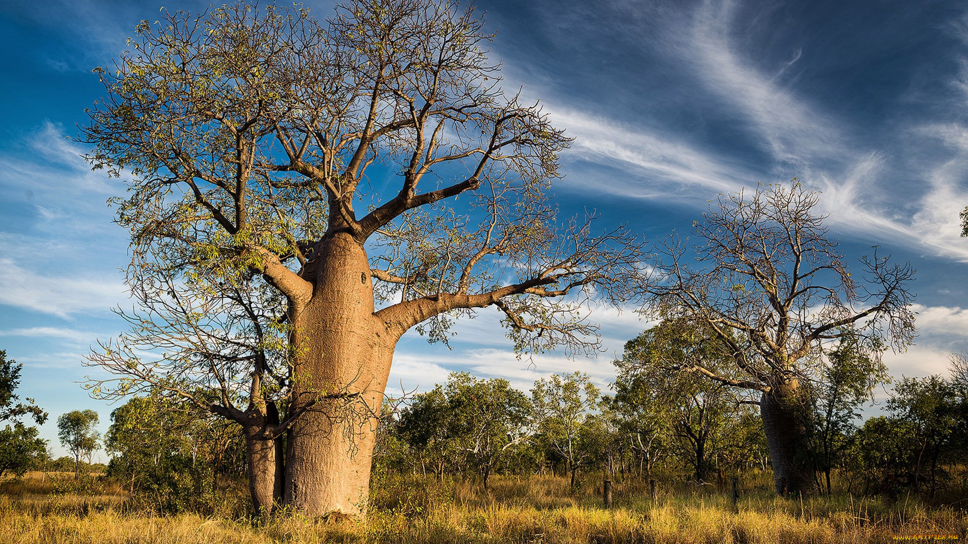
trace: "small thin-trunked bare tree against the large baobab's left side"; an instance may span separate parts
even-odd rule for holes
[[[116,311],[130,330],[88,355],[112,377],[85,386],[98,399],[150,394],[237,423],[253,505],[270,514],[283,493],[283,435],[301,413],[287,409],[286,308],[251,274],[203,263],[175,273],[173,255],[197,256],[168,251],[136,252],[127,283],[137,308]]]

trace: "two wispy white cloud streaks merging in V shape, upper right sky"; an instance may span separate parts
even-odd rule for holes
[[[576,138],[576,156],[631,174],[565,183],[591,183],[605,193],[643,199],[687,195],[685,200],[703,208],[717,193],[786,181],[783,176],[791,174],[823,192],[820,211],[829,214],[830,225],[838,232],[873,243],[890,239],[909,249],[968,261],[968,245],[958,238],[958,211],[968,204],[968,190],[961,182],[968,177],[968,129],[959,123],[900,123],[893,135],[881,139],[887,147],[871,147],[871,138],[858,136],[860,127],[784,82],[806,54],[802,48],[791,51],[790,60],[772,70],[749,57],[737,43],[740,7],[736,0],[706,0],[691,17],[670,19],[665,52],[691,70],[722,104],[724,115],[739,119],[746,137],[759,142],[771,161],[747,165],[718,155],[709,144],[683,140],[673,130],[630,127],[629,121],[582,113],[581,106],[569,106],[565,97],[555,96],[549,109]],[[953,84],[968,80],[963,74],[953,78]],[[939,138],[953,155],[909,160],[932,155]],[[899,153],[903,155],[898,157]],[[892,197],[895,184],[920,190],[910,201],[898,202]]]

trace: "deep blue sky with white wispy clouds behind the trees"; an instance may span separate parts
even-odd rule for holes
[[[207,3],[165,2],[198,11]],[[327,2],[308,2],[319,18]],[[708,201],[798,177],[823,192],[848,257],[870,246],[918,268],[920,337],[886,355],[895,376],[944,373],[968,351],[968,7],[957,1],[485,0],[506,89],[541,99],[575,138],[554,189],[562,214],[596,209],[649,237],[685,232]],[[67,139],[102,95],[110,66],[142,18],[141,0],[0,3],[0,348],[23,363],[21,396],[53,420],[113,407],[76,383],[97,339],[122,330],[130,306],[119,269],[126,232],[111,223],[116,180],[93,173]],[[390,388],[432,387],[450,370],[500,376],[525,389],[553,372],[599,384],[645,328],[627,309],[600,308],[607,351],[518,360],[496,312],[462,323],[453,350],[411,332]],[[883,396],[881,392],[881,396]]]

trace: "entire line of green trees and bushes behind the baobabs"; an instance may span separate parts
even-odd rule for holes
[[[495,474],[556,474],[577,490],[583,474],[721,485],[743,472],[769,471],[755,401],[741,389],[661,362],[699,357],[716,368],[724,355],[703,334],[663,321],[630,340],[614,361],[617,377],[606,394],[579,372],[538,379],[527,393],[506,379],[452,373],[429,391],[386,404],[374,469],[471,479],[485,490]],[[3,356],[5,382],[15,386],[19,365]],[[851,337],[825,353],[823,371],[806,385],[810,447],[803,455],[816,489],[926,499],[963,493],[966,361],[953,355],[951,378],[901,378],[884,404],[887,413],[862,421],[859,410],[871,387],[888,378],[871,372]],[[6,391],[11,418],[43,420],[40,408],[18,403],[13,388]],[[58,460],[36,428],[8,425],[0,446],[4,473],[83,472],[91,468],[91,453],[104,447],[111,457],[99,469],[137,503],[162,512],[204,510],[218,500],[220,482],[245,478],[243,430],[162,393],[115,408],[103,440],[93,430],[96,412],[62,415],[60,438],[72,456]]]

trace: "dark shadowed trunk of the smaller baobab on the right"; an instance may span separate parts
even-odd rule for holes
[[[778,383],[760,400],[760,415],[770,447],[776,493],[808,494],[814,491],[813,469],[809,462],[809,437],[806,413],[809,407],[796,381]]]

